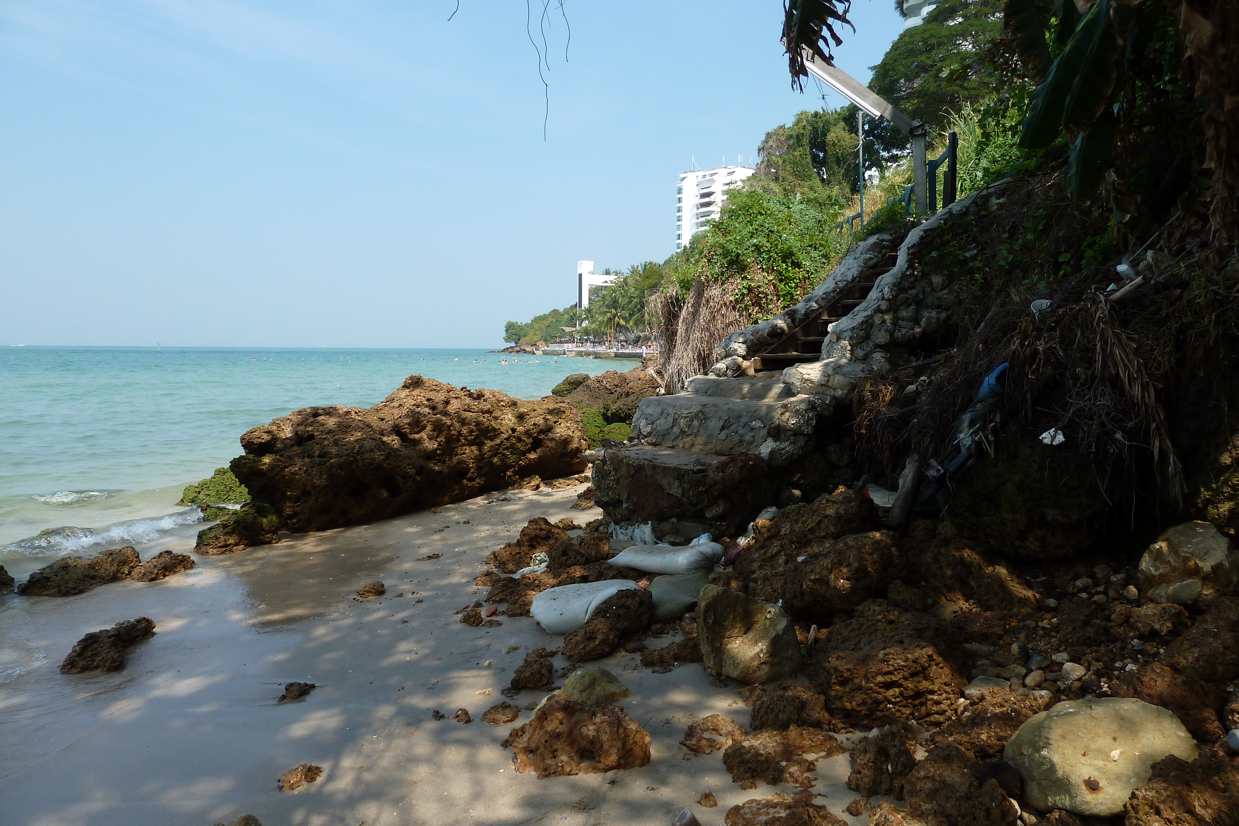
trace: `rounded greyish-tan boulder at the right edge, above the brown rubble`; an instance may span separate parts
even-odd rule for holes
[[[1137,575],[1145,599],[1189,606],[1229,593],[1239,578],[1239,557],[1212,524],[1184,523],[1149,546]]]

